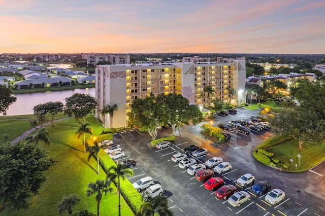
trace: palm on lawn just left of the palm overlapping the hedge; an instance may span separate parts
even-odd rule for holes
[[[110,188],[111,181],[106,179],[106,181],[102,179],[97,179],[95,183],[89,183],[88,189],[86,191],[86,195],[92,196],[96,195],[95,199],[97,201],[97,216],[100,216],[100,204],[103,195],[106,195],[109,192],[112,192],[113,189]]]

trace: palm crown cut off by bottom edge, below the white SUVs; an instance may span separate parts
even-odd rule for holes
[[[152,202],[145,202],[141,208],[138,216],[173,216],[174,213],[170,209],[168,209],[168,201],[167,198],[163,196],[156,196],[152,199]]]

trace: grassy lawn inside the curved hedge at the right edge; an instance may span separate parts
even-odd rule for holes
[[[290,163],[290,159],[293,159],[292,171],[301,172],[310,169],[319,162],[325,160],[325,143],[319,144],[318,142],[310,142],[308,145],[303,145],[305,150],[298,149],[298,141],[291,139],[280,145],[266,149],[268,152],[272,152],[274,157],[283,159]],[[300,166],[296,169],[296,163],[299,164],[297,155],[300,154]]]

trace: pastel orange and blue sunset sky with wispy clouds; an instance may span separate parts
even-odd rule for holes
[[[324,0],[0,0],[0,53],[325,53]]]

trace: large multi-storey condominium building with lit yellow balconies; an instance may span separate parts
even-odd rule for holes
[[[159,65],[98,65],[96,67],[95,97],[99,109],[105,105],[117,104],[112,126],[109,117],[100,116],[106,127],[124,127],[128,123],[127,113],[131,111],[132,101],[154,95],[182,94],[190,103],[205,104],[217,98],[229,100],[227,87],[235,89],[234,100],[245,99],[245,60],[232,63],[161,63]],[[204,87],[211,86],[216,92],[202,96]]]

